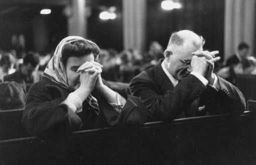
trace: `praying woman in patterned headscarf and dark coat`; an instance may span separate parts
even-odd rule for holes
[[[137,97],[120,95],[101,78],[95,62],[99,47],[80,36],[68,36],[57,46],[43,79],[27,94],[22,122],[34,135],[65,134],[123,123],[146,121]]]

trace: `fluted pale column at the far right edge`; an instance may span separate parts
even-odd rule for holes
[[[224,59],[237,50],[240,42],[250,45],[254,54],[255,0],[225,0]]]

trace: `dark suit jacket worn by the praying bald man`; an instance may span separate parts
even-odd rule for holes
[[[237,87],[218,77],[220,89],[205,86],[196,76],[189,74],[175,87],[162,69],[161,62],[135,76],[130,83],[131,92],[139,96],[152,120],[243,112],[245,99]],[[199,111],[198,107],[205,106]]]

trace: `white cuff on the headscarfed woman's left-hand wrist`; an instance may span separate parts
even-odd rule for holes
[[[82,111],[83,102],[74,92],[71,92],[62,103],[67,104],[76,113]]]

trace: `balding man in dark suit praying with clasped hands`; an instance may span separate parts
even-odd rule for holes
[[[131,92],[152,120],[243,112],[243,94],[212,71],[218,51],[203,51],[204,39],[190,30],[172,33],[165,59],[135,76]]]

